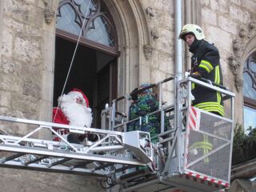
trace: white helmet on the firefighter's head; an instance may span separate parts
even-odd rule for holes
[[[182,31],[179,33],[179,38],[182,38],[182,40],[185,41],[186,34],[194,34],[195,38],[197,38],[198,40],[202,40],[203,38],[205,38],[202,28],[194,24],[186,24],[185,26],[183,26]]]

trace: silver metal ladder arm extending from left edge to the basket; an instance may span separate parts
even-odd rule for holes
[[[20,137],[0,135],[2,167],[106,177],[118,172],[118,165],[145,166],[153,159],[150,134],[142,131],[122,133],[4,116],[0,121],[6,129],[22,124],[24,130],[31,130]],[[70,143],[53,127],[72,134],[95,134],[96,140]],[[40,131],[50,131],[60,142],[37,138]]]

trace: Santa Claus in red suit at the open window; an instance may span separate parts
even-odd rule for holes
[[[58,107],[53,110],[53,122],[70,126],[90,127],[92,123],[92,112],[89,107],[88,98],[82,92],[74,88],[68,94],[58,98]],[[70,134],[68,130],[54,128],[62,136],[66,136],[68,142],[80,143],[86,135]],[[54,141],[60,141],[56,135]]]

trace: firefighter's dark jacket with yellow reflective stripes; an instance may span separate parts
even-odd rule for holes
[[[205,40],[198,41],[196,39],[190,46],[190,52],[194,54],[191,58],[192,73],[197,71],[202,78],[210,79],[210,81],[222,85],[218,49]],[[192,94],[195,98],[192,102],[193,106],[224,116],[222,94],[194,83],[192,84]]]

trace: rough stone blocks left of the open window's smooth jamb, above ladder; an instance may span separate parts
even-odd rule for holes
[[[34,1],[1,1],[1,114],[38,118],[43,31],[35,7]]]

